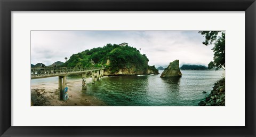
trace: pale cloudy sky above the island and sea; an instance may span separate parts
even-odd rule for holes
[[[205,46],[203,41],[198,31],[31,31],[31,64],[49,66],[93,47],[125,42],[141,49],[150,66],[167,67],[176,59],[180,67],[207,66],[213,61],[213,45]]]

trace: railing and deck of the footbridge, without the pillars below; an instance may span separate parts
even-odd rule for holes
[[[31,79],[53,77],[61,75],[79,74],[86,71],[101,70],[105,67],[100,68],[31,68]]]

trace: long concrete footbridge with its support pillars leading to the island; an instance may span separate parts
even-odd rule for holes
[[[67,75],[81,74],[82,89],[86,90],[86,75],[91,74],[92,83],[103,76],[104,67],[101,68],[31,68],[31,79],[59,77],[60,100],[68,99]]]

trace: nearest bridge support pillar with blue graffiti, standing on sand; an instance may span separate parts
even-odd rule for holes
[[[59,92],[60,92],[60,100],[68,99],[68,86],[67,86],[66,76],[59,76]]]

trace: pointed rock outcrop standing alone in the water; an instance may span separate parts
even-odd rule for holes
[[[160,77],[181,77],[182,74],[179,68],[179,60],[174,60],[170,65],[163,71]]]

